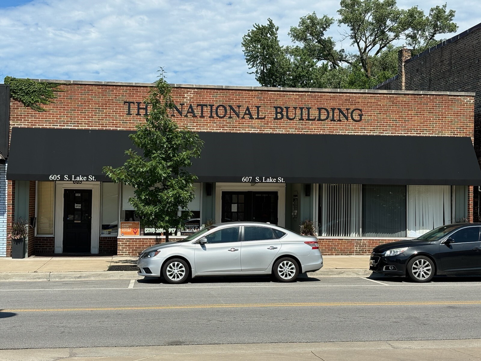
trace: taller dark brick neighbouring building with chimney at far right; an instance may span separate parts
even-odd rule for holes
[[[481,165],[481,23],[411,57],[399,52],[398,75],[376,90],[469,91],[474,97],[474,149]],[[451,113],[456,113],[455,107]],[[474,192],[474,220],[480,221],[480,191]]]

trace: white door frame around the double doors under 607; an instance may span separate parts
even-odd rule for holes
[[[223,191],[277,191],[277,219],[278,226],[286,225],[286,184],[285,183],[215,183],[215,223],[222,221],[222,192]]]

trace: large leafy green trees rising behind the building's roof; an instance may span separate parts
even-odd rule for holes
[[[271,19],[254,24],[242,38],[251,74],[262,86],[370,88],[396,75],[397,43],[405,41],[416,54],[440,41],[436,36],[457,29],[455,11],[446,4],[425,15],[417,6],[399,9],[396,0],[341,0],[337,13],[337,20],[315,12],[301,17],[287,46],[279,44]],[[339,40],[349,39],[354,51],[326,36],[336,22],[346,29]]]

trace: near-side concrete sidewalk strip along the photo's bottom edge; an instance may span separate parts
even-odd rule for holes
[[[469,361],[480,358],[480,339],[0,350],[0,359],[5,361]]]

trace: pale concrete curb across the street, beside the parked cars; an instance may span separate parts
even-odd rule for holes
[[[307,272],[308,277],[367,277],[366,269],[325,269]],[[304,276],[305,277],[305,276]],[[76,271],[76,272],[0,272],[2,281],[75,281],[75,280],[139,280],[137,271]]]

